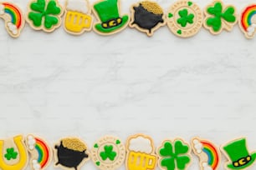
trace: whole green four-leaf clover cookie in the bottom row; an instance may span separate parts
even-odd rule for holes
[[[191,148],[182,139],[166,140],[157,150],[162,170],[185,170],[192,163]]]

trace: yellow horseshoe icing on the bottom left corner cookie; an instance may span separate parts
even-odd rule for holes
[[[5,163],[3,160],[3,140],[0,140],[0,168],[3,170],[22,170],[23,168],[26,167],[28,163],[28,153],[25,148],[25,145],[23,143],[23,136],[18,135],[17,137],[13,138],[14,143],[16,144],[18,148],[18,153],[19,153],[19,161],[18,163],[15,163],[13,165],[8,165]]]

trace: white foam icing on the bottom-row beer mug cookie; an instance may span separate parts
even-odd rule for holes
[[[152,153],[153,148],[151,147],[151,140],[149,138],[143,138],[139,136],[138,138],[132,138],[129,143],[129,149],[131,151],[140,153]]]

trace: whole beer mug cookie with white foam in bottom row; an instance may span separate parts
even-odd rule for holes
[[[157,156],[152,139],[144,134],[136,134],[126,142],[126,169],[127,170],[154,170],[157,165]]]

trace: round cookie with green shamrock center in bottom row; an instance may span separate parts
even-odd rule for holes
[[[125,161],[125,145],[119,138],[100,138],[91,150],[91,159],[100,170],[115,170]]]

